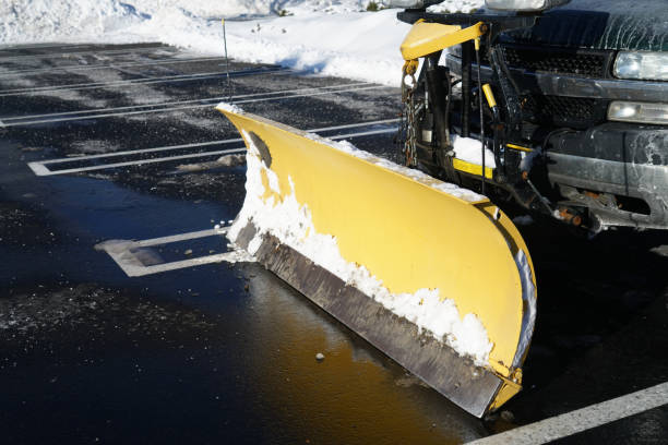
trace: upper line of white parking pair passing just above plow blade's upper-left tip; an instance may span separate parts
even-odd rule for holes
[[[373,85],[373,84],[370,84],[368,82],[355,82],[355,83],[341,84],[341,85],[312,86],[308,88],[279,89],[276,92],[265,92],[265,93],[250,93],[250,94],[241,94],[241,95],[232,96],[232,100],[240,99],[240,98],[248,98],[248,97],[276,96],[281,94],[301,93],[301,92],[310,92],[310,91],[348,88],[348,87],[363,86],[363,85]],[[170,100],[170,101],[158,103],[158,104],[130,105],[130,106],[124,106],[124,107],[93,108],[90,110],[50,112],[46,115],[8,116],[2,119],[5,122],[22,121],[22,120],[29,120],[29,119],[35,119],[35,118],[52,118],[52,117],[58,117],[58,116],[91,115],[91,113],[104,112],[104,111],[136,110],[136,109],[143,109],[143,108],[164,107],[164,106],[169,106],[169,105],[183,105],[183,104],[194,104],[194,103],[202,104],[204,101],[207,103],[205,106],[210,106],[212,104],[215,104],[218,100],[226,100],[226,99],[229,99],[229,97],[228,96],[215,96],[215,97],[203,97],[199,99],[189,99],[189,100]]]

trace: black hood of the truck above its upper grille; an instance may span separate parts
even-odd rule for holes
[[[572,0],[546,12],[532,28],[504,37],[560,47],[668,51],[668,0]]]

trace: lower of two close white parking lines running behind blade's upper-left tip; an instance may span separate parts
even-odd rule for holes
[[[324,89],[325,87],[322,87],[322,89]],[[331,87],[330,87],[331,88]],[[244,100],[232,100],[232,104],[235,105],[239,105],[239,104],[250,104],[250,103],[257,103],[257,101],[270,101],[270,100],[285,100],[285,99],[293,99],[293,98],[297,98],[297,97],[313,97],[313,96],[322,96],[322,95],[326,95],[326,94],[337,94],[337,93],[350,93],[350,92],[361,92],[361,91],[367,91],[367,89],[377,89],[377,88],[386,88],[386,86],[384,85],[371,85],[371,86],[361,86],[361,87],[353,87],[353,88],[346,88],[346,89],[329,89],[329,91],[319,91],[317,93],[305,93],[305,94],[290,94],[290,95],[285,95],[285,96],[278,96],[278,97],[262,97],[262,98],[255,98],[255,99],[244,99]],[[318,89],[318,88],[309,88],[310,91],[313,89]],[[285,92],[281,92],[281,93],[285,93]],[[269,94],[274,94],[274,93],[269,93]],[[198,101],[203,101],[203,100],[225,100],[227,99],[227,97],[223,96],[219,98],[206,98],[206,99],[199,99]],[[192,100],[184,100],[183,103],[192,103]],[[155,106],[160,106],[164,104],[157,104],[157,105],[151,105],[153,107]],[[11,118],[3,118],[4,122],[5,122],[5,127],[24,127],[24,125],[35,125],[38,123],[55,123],[55,122],[67,122],[67,121],[79,121],[79,120],[90,120],[90,119],[102,119],[102,118],[111,118],[111,117],[116,117],[116,116],[135,116],[135,115],[148,115],[148,113],[154,113],[154,112],[168,112],[168,111],[178,111],[178,110],[189,110],[189,109],[195,109],[195,108],[206,108],[206,107],[211,107],[211,103],[210,104],[201,104],[201,105],[189,105],[189,106],[182,106],[182,107],[167,107],[167,108],[156,108],[156,109],[143,109],[143,110],[138,110],[138,111],[123,111],[123,112],[110,112],[110,113],[102,113],[102,115],[87,115],[87,116],[72,116],[69,118],[57,118],[57,119],[40,119],[40,120],[32,120],[32,121],[16,121],[21,118],[17,117],[11,117]],[[147,108],[151,106],[138,106],[138,107],[131,107],[131,108]],[[119,107],[121,108],[121,107]],[[127,107],[123,107],[127,108]],[[94,111],[100,111],[100,110],[91,110],[91,111],[83,111],[83,112],[94,112]],[[12,120],[12,122],[8,122]]]

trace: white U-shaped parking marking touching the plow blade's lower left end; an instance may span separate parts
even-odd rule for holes
[[[232,250],[225,253],[216,253],[206,256],[198,256],[194,258],[174,261],[159,264],[144,264],[142,253],[146,248],[154,245],[170,244],[172,242],[188,241],[198,238],[215,237],[227,232],[228,227],[220,229],[198,230],[189,233],[179,233],[170,237],[153,238],[142,241],[127,240],[109,240],[95,245],[96,250],[107,252],[107,254],[116,262],[116,264],[129,277],[142,277],[145,275],[159,274],[168,270],[177,270],[184,267],[201,266],[213,263],[236,263],[253,261],[244,251]],[[153,251],[152,251],[153,253]]]

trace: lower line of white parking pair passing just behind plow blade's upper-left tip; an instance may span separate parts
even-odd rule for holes
[[[366,84],[366,85],[370,85],[370,84]],[[330,88],[326,91],[323,91],[325,88]],[[334,88],[339,88],[339,89],[334,89]],[[234,100],[231,104],[235,105],[239,105],[239,104],[250,104],[250,103],[258,103],[258,101],[270,101],[270,100],[285,100],[285,99],[291,99],[291,98],[297,98],[297,97],[313,97],[313,96],[322,96],[322,95],[326,95],[326,94],[337,94],[337,93],[350,93],[350,92],[360,92],[360,91],[367,91],[367,89],[378,89],[378,88],[387,88],[387,86],[385,85],[370,85],[370,86],[359,86],[359,87],[350,87],[350,88],[341,88],[339,86],[334,86],[334,87],[320,87],[320,88],[303,88],[302,91],[317,91],[315,93],[305,93],[305,94],[289,94],[287,92],[277,92],[278,94],[286,94],[285,96],[278,96],[278,97],[261,97],[261,98],[254,98],[254,99],[243,99],[243,100]],[[277,93],[264,93],[264,95],[275,95]],[[237,96],[237,97],[241,97],[241,96]],[[67,118],[56,118],[56,119],[38,119],[38,120],[24,120],[21,121],[23,119],[28,119],[31,117],[5,117],[2,118],[5,122],[5,127],[24,127],[24,125],[35,125],[35,124],[39,124],[39,123],[55,123],[55,122],[67,122],[67,121],[79,121],[79,120],[90,120],[90,119],[102,119],[102,118],[111,118],[111,117],[116,117],[116,116],[135,116],[135,115],[148,115],[148,113],[154,113],[154,112],[169,112],[169,111],[178,111],[178,110],[188,110],[188,109],[196,109],[196,108],[206,108],[206,107],[211,107],[212,101],[218,101],[218,100],[225,100],[227,99],[226,96],[222,96],[222,97],[217,97],[217,98],[204,98],[204,99],[194,99],[194,100],[183,100],[183,101],[179,101],[176,104],[187,104],[187,103],[193,103],[193,101],[207,101],[207,104],[200,104],[200,105],[188,105],[188,106],[179,106],[179,107],[163,107],[163,108],[154,108],[154,109],[141,109],[141,110],[136,110],[136,111],[122,111],[122,112],[109,112],[109,113],[99,113],[99,115],[95,115],[95,112],[99,112],[99,111],[104,111],[104,109],[94,109],[94,110],[85,110],[85,111],[68,111],[68,112],[63,112],[63,113],[53,113],[53,115],[46,115],[46,116],[56,116],[56,115],[73,115],[73,113],[85,113],[84,116],[71,116],[71,117],[67,117]],[[150,107],[160,107],[164,106],[165,104],[152,104],[152,105],[141,105],[141,106],[135,106],[135,107],[118,107],[116,108],[116,110],[120,110],[123,108],[131,108],[131,109],[138,109],[138,108],[150,108]],[[8,122],[9,121],[9,122]]]

